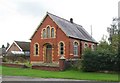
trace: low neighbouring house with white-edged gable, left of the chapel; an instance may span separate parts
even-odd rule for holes
[[[30,42],[14,41],[6,50],[7,55],[30,56]]]

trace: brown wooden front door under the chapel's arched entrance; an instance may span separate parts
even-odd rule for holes
[[[52,46],[50,44],[46,45],[46,63],[52,62]]]

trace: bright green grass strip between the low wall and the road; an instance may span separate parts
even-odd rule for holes
[[[2,75],[8,76],[29,76],[40,78],[66,78],[79,80],[97,80],[97,81],[118,81],[118,74],[105,74],[82,72],[75,70],[66,71],[44,71],[35,69],[2,67]]]

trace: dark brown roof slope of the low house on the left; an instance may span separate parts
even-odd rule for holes
[[[30,42],[15,41],[23,51],[30,51]]]

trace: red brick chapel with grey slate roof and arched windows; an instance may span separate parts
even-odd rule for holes
[[[47,12],[31,37],[30,61],[59,64],[61,57],[76,60],[82,57],[85,48],[94,50],[96,45],[95,39],[72,18],[68,21]]]

